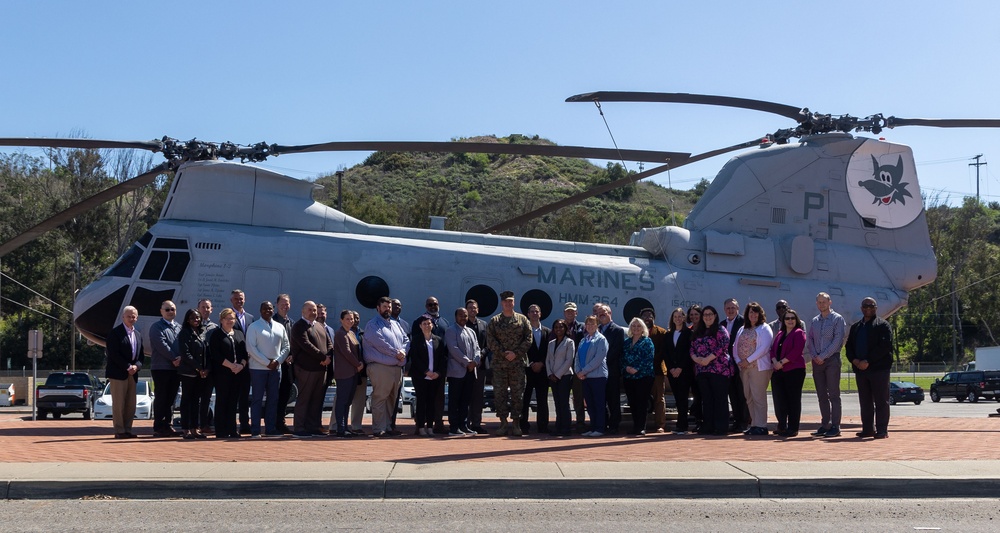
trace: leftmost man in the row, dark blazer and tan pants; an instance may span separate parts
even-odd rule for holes
[[[134,438],[135,384],[142,368],[142,334],[135,328],[139,311],[131,305],[122,311],[122,323],[115,326],[105,339],[108,356],[105,377],[111,384],[111,417],[116,439]]]

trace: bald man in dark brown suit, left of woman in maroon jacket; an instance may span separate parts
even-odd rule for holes
[[[292,324],[290,356],[295,362],[295,381],[299,396],[295,400],[296,437],[326,435],[323,431],[323,382],[326,367],[333,356],[333,340],[326,327],[316,320],[319,310],[307,301],[302,305],[302,318]]]

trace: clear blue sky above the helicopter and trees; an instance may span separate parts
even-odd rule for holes
[[[4,4],[3,21],[0,137],[299,144],[524,133],[611,147],[593,105],[564,103],[595,90],[1000,118],[995,1],[19,1]],[[792,125],[678,104],[604,112],[622,148],[692,153]],[[1000,200],[1000,131],[882,136],[911,145],[925,194],[950,203],[975,194],[968,163],[984,154],[983,194]],[[265,166],[313,179],[366,155]],[[690,188],[725,159],[670,178]]]

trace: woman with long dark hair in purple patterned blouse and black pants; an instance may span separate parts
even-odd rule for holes
[[[729,427],[729,332],[719,327],[719,313],[711,305],[701,311],[691,336],[691,360],[701,390],[704,421],[699,435],[726,435]]]

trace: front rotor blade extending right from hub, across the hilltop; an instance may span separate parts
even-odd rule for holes
[[[397,141],[358,141],[329,142],[321,144],[304,144],[299,146],[272,147],[273,153],[294,154],[302,152],[436,152],[436,153],[483,153],[540,155],[552,157],[579,157],[589,159],[608,159],[618,161],[647,161],[666,163],[667,161],[682,161],[691,154],[679,152],[658,152],[652,150],[615,150],[613,148],[587,148],[583,146],[555,146],[546,144],[507,144],[507,143],[477,143],[477,142],[397,142]]]

